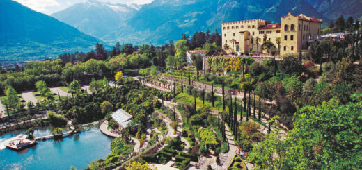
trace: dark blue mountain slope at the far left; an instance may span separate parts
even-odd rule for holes
[[[97,40],[11,0],[0,1],[0,60],[55,57],[64,51],[88,51]]]

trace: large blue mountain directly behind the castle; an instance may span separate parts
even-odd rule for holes
[[[222,22],[266,19],[278,23],[288,12],[328,20],[304,0],[155,0],[103,39],[164,44],[179,40],[181,33],[220,30]]]

